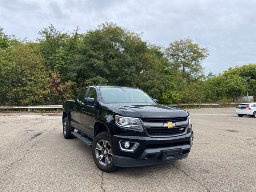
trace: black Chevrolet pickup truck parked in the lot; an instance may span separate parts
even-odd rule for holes
[[[92,147],[94,162],[105,172],[188,157],[193,144],[186,110],[158,104],[144,91],[119,86],[90,86],[63,103],[63,135]]]

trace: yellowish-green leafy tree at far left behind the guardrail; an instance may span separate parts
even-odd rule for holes
[[[1,101],[10,105],[44,104],[46,70],[36,43],[17,43],[2,52]]]

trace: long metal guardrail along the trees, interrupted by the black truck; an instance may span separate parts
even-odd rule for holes
[[[170,106],[207,106],[207,105],[238,105],[238,103],[192,103],[192,104],[168,104]],[[28,106],[0,106],[0,109],[61,109],[62,105],[28,105]]]

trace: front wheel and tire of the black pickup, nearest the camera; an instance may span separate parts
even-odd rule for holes
[[[104,172],[110,173],[118,169],[114,165],[108,132],[101,132],[94,138],[92,143],[92,157],[97,167]]]

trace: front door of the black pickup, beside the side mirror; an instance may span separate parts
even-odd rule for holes
[[[98,102],[98,94],[96,88],[91,87],[86,94],[86,97],[94,98],[94,104]],[[82,131],[88,134],[88,136],[93,137],[93,127],[95,115],[98,109],[94,106],[83,104],[81,110],[81,126]]]

